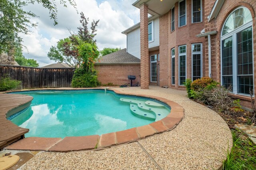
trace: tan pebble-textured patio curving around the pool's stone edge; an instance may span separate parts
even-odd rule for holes
[[[20,169],[218,169],[232,147],[225,121],[208,107],[186,97],[186,91],[150,86],[116,88],[120,92],[158,96],[184,108],[184,119],[171,131],[104,150],[39,152]]]

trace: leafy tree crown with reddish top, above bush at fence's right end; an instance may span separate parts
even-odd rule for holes
[[[85,63],[88,64],[85,67],[89,69],[99,55],[96,40],[94,40],[99,20],[93,20],[89,30],[87,26],[89,18],[85,18],[82,12],[80,14],[82,26],[78,27],[78,34],[72,34],[58,41],[57,46],[50,48],[48,57],[50,60],[64,62],[71,67],[81,67]]]

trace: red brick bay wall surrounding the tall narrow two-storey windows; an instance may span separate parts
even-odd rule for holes
[[[178,46],[186,45],[187,78],[191,78],[191,44],[203,43],[205,38],[198,38],[196,35],[204,29],[204,10],[202,10],[202,19],[200,23],[191,23],[191,0],[186,0],[186,25],[178,27],[178,2],[175,4],[175,30],[171,32],[171,10],[160,17],[160,86],[169,86],[170,88],[185,90],[184,86],[178,86]],[[204,9],[204,0],[202,0],[202,9]],[[171,85],[171,49],[175,47],[175,85]],[[203,50],[203,61],[205,53]],[[205,65],[203,62],[203,76]]]

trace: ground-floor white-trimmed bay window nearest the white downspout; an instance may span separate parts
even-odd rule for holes
[[[202,43],[192,44],[192,81],[202,77]]]

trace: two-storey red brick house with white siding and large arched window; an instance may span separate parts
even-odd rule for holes
[[[210,76],[250,107],[255,89],[255,0],[137,0],[140,23],[126,29],[127,52],[141,59],[141,88],[185,90]],[[150,14],[150,17],[148,17]]]

